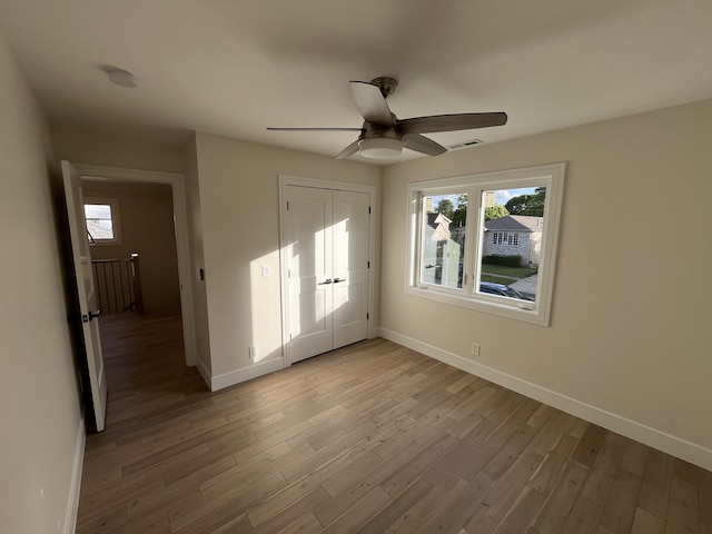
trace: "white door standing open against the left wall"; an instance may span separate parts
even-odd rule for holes
[[[62,161],[62,178],[65,182],[65,197],[67,199],[72,260],[75,264],[75,275],[77,277],[77,293],[79,294],[81,329],[87,353],[91,405],[97,431],[101,432],[103,431],[106,422],[107,377],[103,369],[103,357],[101,355],[99,320],[97,319],[99,310],[93,287],[89,240],[87,238],[81,176],[69,161]]]

